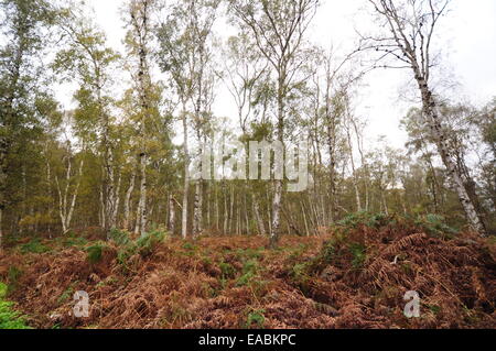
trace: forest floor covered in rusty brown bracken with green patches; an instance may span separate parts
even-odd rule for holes
[[[0,256],[0,283],[32,328],[496,328],[494,238],[375,216],[266,244],[24,239]],[[74,317],[78,290],[88,318]],[[403,314],[409,290],[420,318]]]

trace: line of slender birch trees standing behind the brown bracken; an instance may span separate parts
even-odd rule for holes
[[[117,52],[84,2],[2,0],[0,241],[101,228],[261,234],[277,245],[281,233],[319,234],[356,211],[436,213],[494,232],[496,99],[463,103],[432,78],[450,1],[368,2],[376,32],[336,53],[311,42],[319,0],[127,0]],[[402,150],[369,143],[356,112],[368,72],[397,68],[418,97]],[[72,110],[57,101],[67,86]],[[223,89],[236,116],[215,114]],[[192,179],[195,146],[214,133],[303,136],[309,189]]]

